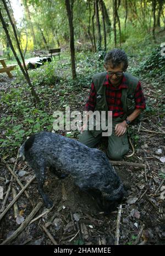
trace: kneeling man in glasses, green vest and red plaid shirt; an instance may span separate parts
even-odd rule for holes
[[[113,160],[119,160],[129,150],[128,126],[145,109],[145,98],[139,79],[125,72],[128,58],[124,50],[109,51],[104,67],[106,72],[93,77],[85,110],[112,111],[112,135],[108,136],[107,155]],[[82,127],[79,141],[95,147],[101,140],[102,131],[85,130],[85,126]]]

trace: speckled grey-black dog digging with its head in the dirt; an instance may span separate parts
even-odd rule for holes
[[[106,154],[71,138],[39,132],[23,143],[19,157],[34,170],[38,192],[47,208],[53,205],[43,191],[47,167],[58,178],[64,177],[63,174],[72,175],[80,190],[89,193],[106,213],[113,211],[125,195],[123,184]]]

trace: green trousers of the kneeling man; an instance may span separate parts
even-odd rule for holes
[[[107,155],[110,159],[113,160],[120,160],[124,157],[125,154],[129,151],[129,142],[127,132],[123,136],[116,136],[114,133],[114,129],[116,124],[121,122],[120,119],[116,118],[112,122],[112,135],[108,136],[108,148],[107,148]],[[85,144],[88,147],[95,147],[98,142],[101,141],[102,133],[94,137],[90,131],[84,131],[80,137],[79,141]]]

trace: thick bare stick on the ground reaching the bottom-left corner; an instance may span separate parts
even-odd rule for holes
[[[38,210],[40,210],[42,204],[43,204],[43,202],[38,202],[35,209],[32,210],[31,214],[29,216],[27,216],[26,220],[23,223],[21,223],[20,227],[17,230],[15,230],[14,233],[10,237],[5,239],[5,241],[3,241],[1,243],[1,245],[2,244],[7,244],[7,243],[13,241],[25,229],[25,227],[29,224],[31,219],[36,215]]]

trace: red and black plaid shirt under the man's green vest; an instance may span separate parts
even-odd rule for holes
[[[121,116],[124,114],[123,106],[122,106],[122,89],[128,88],[126,83],[126,78],[123,76],[122,82],[120,83],[119,87],[113,87],[111,82],[109,82],[108,75],[106,76],[105,82],[103,86],[106,86],[106,100],[108,105],[108,110],[112,111],[112,116],[116,118],[117,116]],[[92,82],[90,95],[85,105],[86,111],[94,111],[96,106],[96,89],[95,84]],[[145,98],[144,94],[142,93],[141,83],[139,82],[136,91],[135,91],[135,106],[137,109],[145,109]]]

